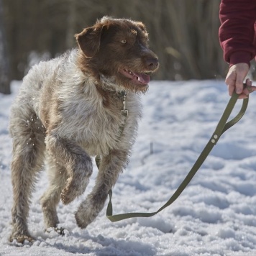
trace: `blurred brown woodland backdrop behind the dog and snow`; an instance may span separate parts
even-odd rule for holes
[[[221,79],[220,0],[0,0],[0,92],[40,60],[76,47],[73,37],[104,15],[140,20],[160,59],[155,80]]]

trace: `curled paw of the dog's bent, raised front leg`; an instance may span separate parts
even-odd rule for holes
[[[65,188],[60,194],[63,204],[70,204],[78,196],[81,196],[86,190],[89,178],[68,178]]]

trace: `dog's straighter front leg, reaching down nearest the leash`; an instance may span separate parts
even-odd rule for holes
[[[102,157],[96,185],[76,212],[78,227],[86,228],[103,209],[109,190],[127,164],[127,157],[125,150],[111,150],[108,156]]]

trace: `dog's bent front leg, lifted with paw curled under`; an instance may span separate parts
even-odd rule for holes
[[[86,190],[93,170],[91,157],[76,142],[58,137],[58,134],[47,135],[45,143],[56,163],[67,170],[69,178],[60,198],[63,204],[69,204]]]

